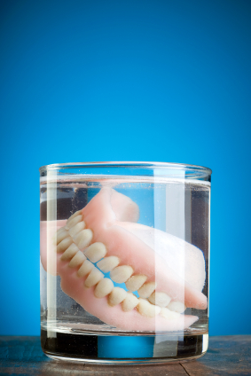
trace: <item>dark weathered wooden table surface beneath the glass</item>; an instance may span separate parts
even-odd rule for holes
[[[40,337],[0,337],[0,375],[111,376],[251,375],[251,335],[210,337],[205,356],[182,364],[93,365],[56,362],[43,355]]]

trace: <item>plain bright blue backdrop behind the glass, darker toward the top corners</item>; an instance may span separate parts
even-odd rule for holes
[[[213,169],[210,334],[251,333],[249,1],[1,1],[0,333],[40,332],[39,174]]]

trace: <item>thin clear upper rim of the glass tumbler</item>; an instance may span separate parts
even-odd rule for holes
[[[208,175],[212,174],[211,168],[174,162],[151,162],[151,161],[92,161],[92,162],[69,162],[69,163],[52,163],[39,168],[40,172],[46,170],[55,170],[61,168],[102,168],[102,167],[120,167],[120,168],[169,168],[169,169],[186,169],[189,171],[204,171]]]

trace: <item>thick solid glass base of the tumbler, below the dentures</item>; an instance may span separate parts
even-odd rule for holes
[[[51,333],[42,328],[41,346],[55,360],[92,364],[163,364],[197,359],[208,349],[208,333],[113,336]]]

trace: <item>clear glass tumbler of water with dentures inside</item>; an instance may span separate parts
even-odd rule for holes
[[[47,356],[160,364],[205,354],[211,172],[154,162],[40,168]]]

